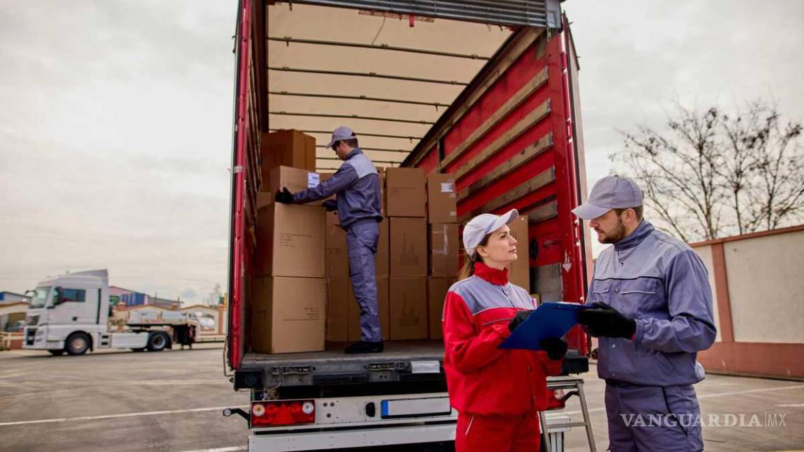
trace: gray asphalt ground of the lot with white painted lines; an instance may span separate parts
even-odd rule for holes
[[[0,352],[0,450],[244,450],[248,429],[224,407],[245,406],[223,372],[220,344],[194,350],[105,351],[53,357]],[[597,450],[606,450],[604,384],[587,376]],[[710,375],[696,386],[706,418],[757,414],[761,426],[704,427],[706,450],[804,450],[804,382]],[[573,397],[565,413],[580,420]],[[777,425],[769,425],[770,419]],[[589,450],[584,429],[566,437],[568,451]]]

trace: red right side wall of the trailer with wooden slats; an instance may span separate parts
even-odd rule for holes
[[[588,238],[571,212],[585,193],[576,74],[565,20],[520,28],[404,162],[455,176],[461,224],[511,208],[527,216],[526,289],[548,302],[585,299]],[[568,343],[589,351],[580,328]]]

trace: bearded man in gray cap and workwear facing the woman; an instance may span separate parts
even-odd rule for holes
[[[693,384],[695,360],[715,341],[707,269],[683,241],[642,220],[642,190],[612,175],[572,211],[613,244],[597,257],[578,314],[599,339],[597,375],[606,382],[609,447],[620,451],[704,450]]]

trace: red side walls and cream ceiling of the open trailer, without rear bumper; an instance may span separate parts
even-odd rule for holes
[[[520,208],[538,242],[531,290],[580,300],[583,246],[569,213],[578,158],[561,27],[559,0],[240,0],[229,368],[240,367],[248,341],[260,140],[274,129],[322,143],[334,126],[354,123],[378,166],[458,173],[462,220]],[[318,170],[334,169],[331,152],[318,148]],[[570,342],[585,352],[580,336]]]

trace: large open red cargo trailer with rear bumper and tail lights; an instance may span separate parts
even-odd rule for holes
[[[389,19],[410,27],[410,33],[394,31],[408,45],[375,43],[391,32]],[[464,26],[475,28],[463,34]],[[357,39],[367,28],[375,39]],[[490,55],[450,51],[487,48],[486,31],[505,35]],[[589,237],[570,212],[585,194],[578,67],[559,2],[241,0],[235,40],[225,353],[233,387],[248,392],[249,405],[224,415],[248,421],[249,450],[449,449],[457,413],[446,393],[441,340],[386,342],[385,351],[373,355],[344,355],[341,348],[252,350],[250,284],[259,246],[253,230],[256,199],[265,186],[260,140],[293,128],[327,142],[332,129],[347,124],[378,165],[454,175],[461,223],[510,208],[527,217],[529,253],[520,259],[527,259],[532,294],[543,301],[583,302]],[[306,53],[309,48],[326,50]],[[477,68],[465,81],[426,72],[447,71],[461,59]],[[442,89],[453,90],[449,104],[433,101]],[[437,118],[403,117],[423,112],[411,110],[421,105],[434,107]],[[408,124],[417,129],[406,129]],[[407,146],[400,151],[404,160],[384,160],[395,146],[372,146],[371,140]],[[332,168],[327,151],[318,152],[322,171]],[[589,338],[576,328],[565,339],[571,349],[565,373],[587,371]],[[579,381],[566,377],[549,384],[577,387],[569,380]],[[556,409],[562,399],[560,391],[554,393]],[[575,426],[557,413],[543,417],[552,450],[561,450],[563,432]]]

